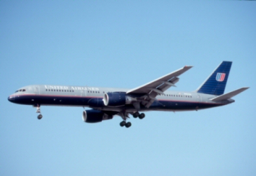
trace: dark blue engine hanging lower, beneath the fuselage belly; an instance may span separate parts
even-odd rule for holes
[[[99,110],[83,111],[82,119],[86,123],[99,123],[104,120],[112,119],[113,115],[107,115]]]

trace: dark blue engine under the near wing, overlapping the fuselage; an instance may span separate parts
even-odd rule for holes
[[[135,101],[136,98],[127,96],[125,92],[105,93],[103,98],[104,105],[112,107],[125,106]]]

